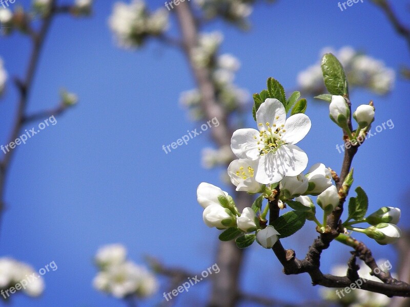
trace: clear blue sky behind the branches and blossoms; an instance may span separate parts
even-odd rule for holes
[[[53,107],[61,87],[77,93],[80,101],[58,117],[56,125],[20,145],[13,159],[0,233],[1,255],[37,269],[55,261],[58,269],[44,276],[47,288],[41,298],[14,295],[12,306],[56,302],[62,307],[123,306],[92,288],[96,273],[92,258],[105,244],[126,245],[136,262],[149,254],[169,266],[198,272],[215,263],[218,231],[203,224],[196,203],[200,182],[223,185],[221,169],[200,167],[201,149],[212,146],[209,130],[168,155],[161,149],[203,123],[191,122],[178,105],[179,93],[194,87],[186,59],[178,50],[155,41],[139,51],[118,49],[107,26],[113,3],[97,1],[89,19],[57,17],[47,38],[29,111]],[[27,4],[17,0],[15,6]],[[394,4],[402,20],[408,20],[406,1]],[[153,9],[162,5],[149,1]],[[206,28],[223,31],[221,51],[241,60],[236,83],[251,93],[264,89],[271,76],[285,89],[295,89],[297,73],[315,63],[326,46],[365,50],[396,70],[410,60],[405,41],[368,0],[343,12],[334,0],[279,1],[274,6],[256,6],[251,21],[248,33],[219,21]],[[177,35],[174,21],[170,33]],[[29,50],[27,38],[20,34],[0,39],[0,56],[10,76],[22,75]],[[401,207],[402,227],[408,227],[410,216],[404,203],[409,187],[408,112],[404,109],[408,85],[397,78],[394,91],[385,97],[361,90],[351,97],[354,106],[374,100],[376,125],[389,119],[394,122],[393,129],[360,148],[354,161],[355,185],[367,192],[369,210]],[[1,144],[6,143],[16,95],[9,82],[0,103]],[[309,156],[309,166],[322,162],[339,170],[342,155],[335,147],[342,143],[339,128],[330,121],[326,103],[312,98],[308,103],[312,129],[300,147]],[[254,126],[251,113],[247,126]],[[306,223],[283,244],[302,257],[315,236],[314,226]],[[393,248],[357,237],[395,269]],[[348,249],[334,245],[323,254],[324,271],[330,269],[334,255],[338,262],[349,256]],[[268,250],[252,246],[245,264],[241,284],[248,292],[290,301],[317,297],[308,276],[283,275]],[[204,301],[207,287],[206,282],[196,286],[178,297],[177,305]],[[160,300],[161,295],[144,305]]]

